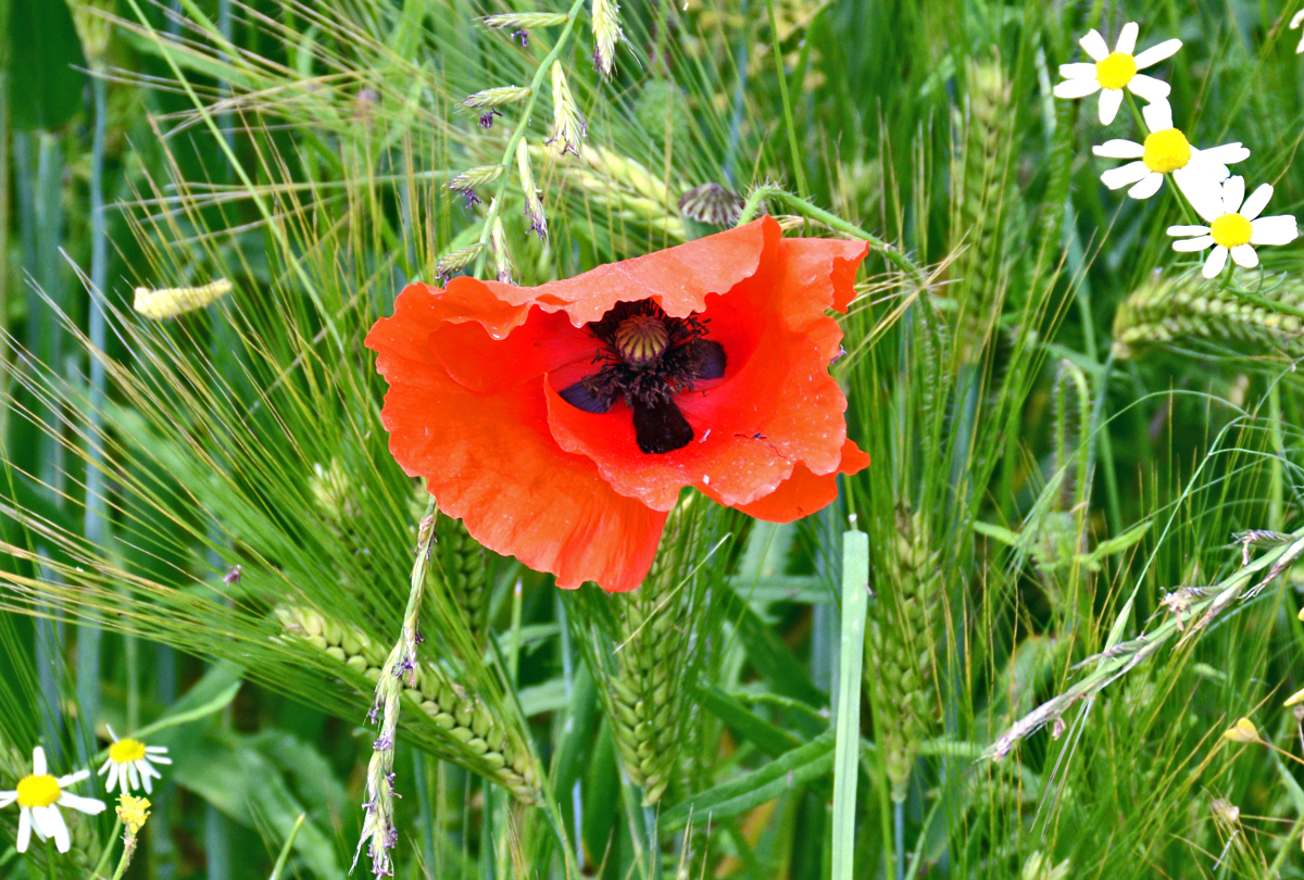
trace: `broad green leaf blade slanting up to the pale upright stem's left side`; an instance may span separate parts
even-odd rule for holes
[[[818,780],[833,768],[833,731],[828,730],[755,773],[681,800],[661,815],[661,829],[682,828],[690,816],[694,823],[737,816]]]

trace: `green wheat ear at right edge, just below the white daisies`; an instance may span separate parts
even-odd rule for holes
[[[1243,270],[1239,282],[1249,291],[1290,309],[1304,308],[1304,282],[1269,279]],[[1304,355],[1304,323],[1291,314],[1247,302],[1198,272],[1148,278],[1114,315],[1114,356],[1125,360],[1149,345],[1227,342],[1247,353]],[[1266,349],[1266,351],[1265,351]]]

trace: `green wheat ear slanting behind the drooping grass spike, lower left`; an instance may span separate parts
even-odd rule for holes
[[[368,681],[381,677],[386,649],[361,630],[301,606],[278,608],[275,615],[286,632]],[[439,757],[497,782],[522,803],[541,802],[533,752],[519,734],[494,717],[480,695],[429,661],[421,665],[415,684],[403,677],[403,691],[446,734],[439,737]]]

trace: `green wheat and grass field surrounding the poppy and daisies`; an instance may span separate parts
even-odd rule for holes
[[[523,12],[557,21],[526,46],[482,21]],[[344,876],[422,506],[366,329],[497,244],[485,218],[501,244],[466,269],[535,284],[715,231],[679,207],[715,183],[891,242],[833,366],[874,464],[792,525],[692,499],[623,597],[441,521],[395,873],[1304,875],[1300,249],[1204,283],[1171,188],[1099,183],[1127,108],[1106,130],[1050,94],[1090,27],[1180,37],[1178,125],[1243,141],[1235,171],[1297,213],[1295,12],[631,1],[602,77],[585,3],[0,0],[0,790],[34,744],[63,773],[150,726],[175,763],[126,876]],[[553,51],[580,156],[546,143]],[[532,82],[492,128],[463,106]],[[498,163],[485,205],[449,190]],[[201,310],[132,312],[215,279]],[[1275,537],[1243,555],[1247,529]],[[1221,737],[1243,716],[1275,748]],[[111,812],[74,817],[47,866],[16,824],[5,876],[116,846]]]

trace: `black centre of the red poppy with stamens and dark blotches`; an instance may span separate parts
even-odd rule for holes
[[[649,455],[673,452],[692,441],[692,426],[674,398],[698,379],[725,374],[725,349],[705,339],[705,322],[695,315],[672,318],[652,300],[618,302],[588,325],[602,342],[592,375],[561,392],[584,412],[606,412],[623,400],[634,412],[634,437]]]

